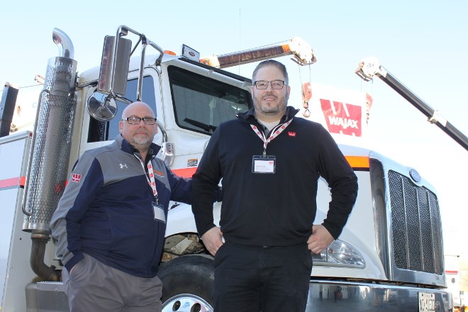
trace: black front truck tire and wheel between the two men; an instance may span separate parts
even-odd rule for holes
[[[161,264],[162,312],[213,312],[214,262],[208,255],[186,255]]]

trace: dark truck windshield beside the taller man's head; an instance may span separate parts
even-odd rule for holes
[[[250,93],[200,74],[169,66],[172,103],[179,127],[199,133],[213,133],[223,121],[247,111]]]

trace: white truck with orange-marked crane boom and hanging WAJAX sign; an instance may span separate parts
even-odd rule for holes
[[[77,74],[71,40],[57,29],[52,37],[60,56],[48,62],[34,131],[0,138],[2,312],[68,311],[50,218],[74,162],[116,137],[114,117],[128,103],[143,100],[157,111],[159,157],[177,174],[191,177],[213,130],[252,107],[251,80],[222,67],[281,55],[294,55],[301,64],[316,61],[306,43],[294,40],[200,60],[189,47],[173,55],[143,33],[120,26],[104,40],[101,67]],[[131,57],[140,44],[141,55]],[[148,47],[157,54],[146,55]],[[369,106],[366,94],[325,89],[303,86],[303,116],[319,112],[330,133],[359,138]],[[360,191],[340,239],[321,255],[311,254],[307,311],[452,311],[433,186],[416,169],[377,151],[352,144],[340,148]],[[321,180],[316,223],[325,218],[329,201]],[[191,207],[176,202],[169,207],[158,273],[163,311],[213,311],[213,258],[196,233]],[[220,208],[217,203],[216,222]]]

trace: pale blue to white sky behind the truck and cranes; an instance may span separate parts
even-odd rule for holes
[[[114,35],[120,25],[145,33],[165,50],[179,53],[184,43],[202,57],[301,37],[315,50],[317,62],[309,72],[282,58],[291,101],[300,101],[300,82],[309,77],[371,94],[374,148],[415,167],[438,189],[445,245],[450,245],[455,235],[468,236],[463,231],[468,152],[384,82],[363,82],[354,69],[364,57],[378,57],[466,135],[467,16],[462,0],[10,1],[1,9],[0,82],[35,85],[35,74],[44,75],[47,60],[58,55],[53,28],[72,39],[79,72],[99,65],[104,35]],[[250,77],[252,66],[230,71]],[[39,86],[26,89],[40,91]]]

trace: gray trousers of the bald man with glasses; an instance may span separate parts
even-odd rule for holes
[[[161,311],[162,282],[108,267],[90,255],[62,270],[70,312]]]

